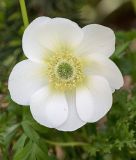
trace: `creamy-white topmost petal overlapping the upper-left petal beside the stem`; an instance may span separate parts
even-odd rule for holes
[[[75,22],[65,18],[53,18],[39,30],[39,32],[37,30],[39,42],[52,51],[73,49],[83,38],[82,29]]]

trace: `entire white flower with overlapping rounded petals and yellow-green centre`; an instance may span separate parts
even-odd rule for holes
[[[109,59],[115,50],[110,28],[39,17],[26,28],[22,46],[28,59],[13,68],[8,86],[15,102],[30,105],[37,122],[73,131],[110,110],[112,92],[123,85]]]

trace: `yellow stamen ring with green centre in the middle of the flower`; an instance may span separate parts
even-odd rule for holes
[[[84,82],[82,60],[72,54],[53,54],[47,59],[47,64],[47,75],[53,89],[71,90]]]

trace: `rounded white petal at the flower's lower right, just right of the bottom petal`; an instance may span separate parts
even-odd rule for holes
[[[77,92],[76,104],[83,121],[98,121],[112,106],[112,92],[108,82],[103,77],[91,76],[89,88]]]

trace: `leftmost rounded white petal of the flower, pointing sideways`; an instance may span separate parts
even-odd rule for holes
[[[32,94],[47,84],[45,66],[24,60],[13,68],[8,88],[11,98],[21,105],[29,105]]]

